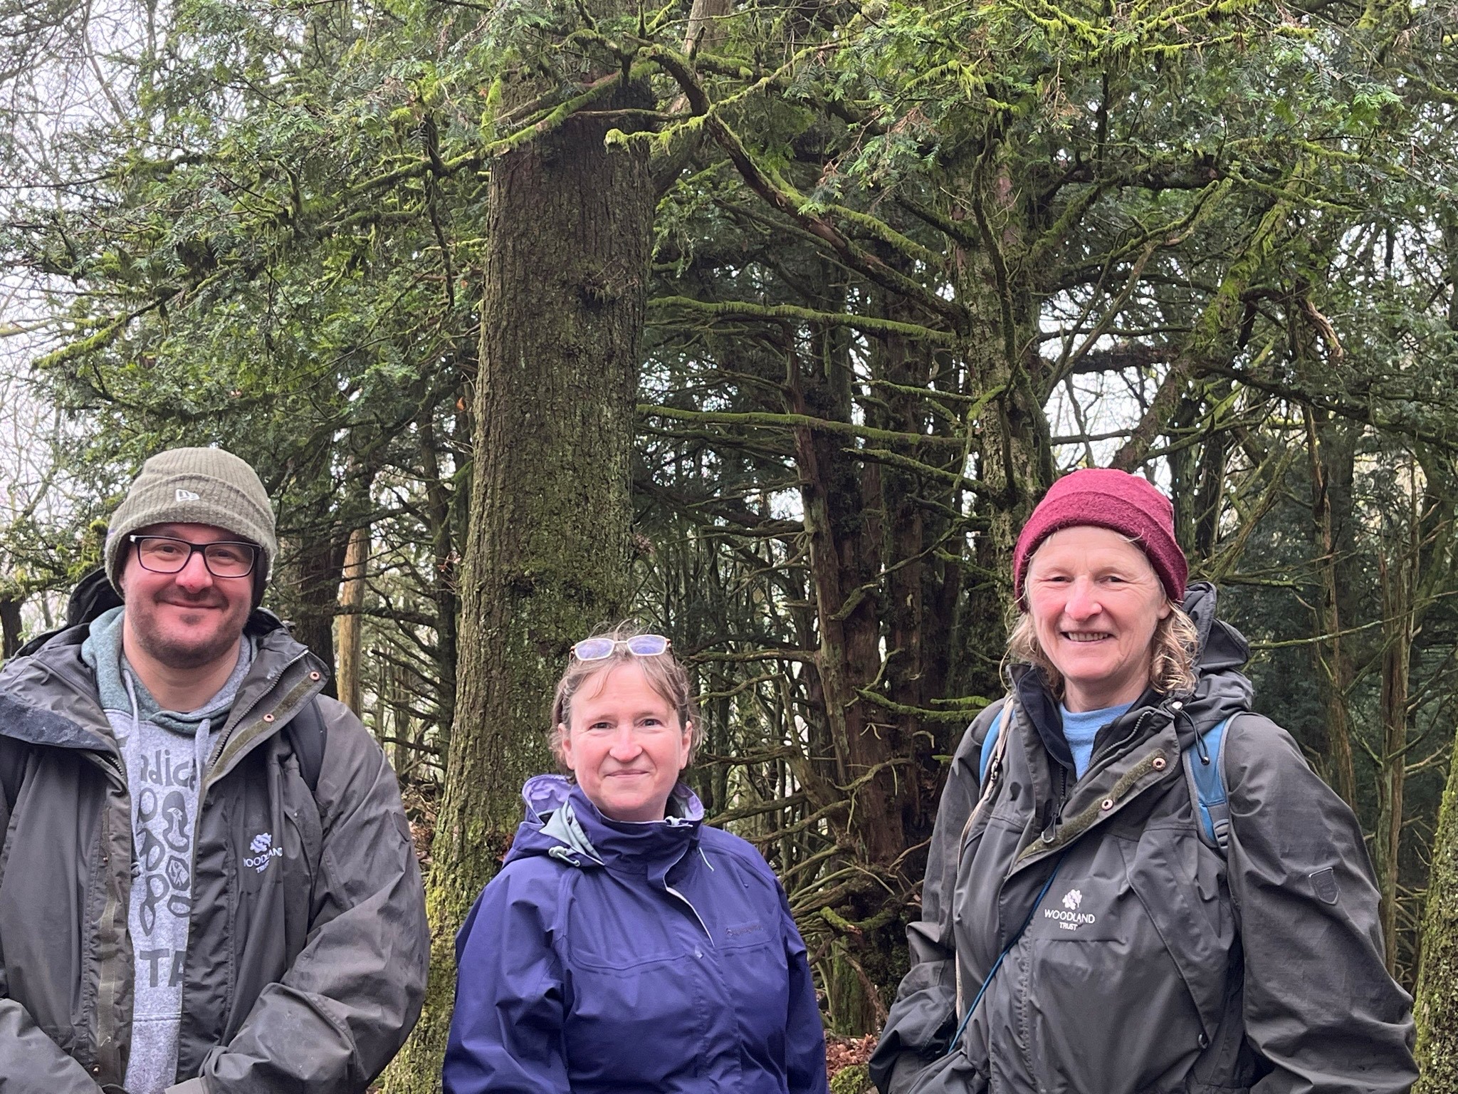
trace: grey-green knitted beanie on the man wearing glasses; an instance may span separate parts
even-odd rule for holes
[[[127,537],[155,524],[211,524],[257,543],[262,559],[254,572],[254,604],[260,601],[278,540],[268,493],[246,462],[222,448],[172,448],[141,465],[106,529],[106,576],[118,592]]]

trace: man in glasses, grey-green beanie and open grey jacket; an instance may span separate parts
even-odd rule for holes
[[[424,995],[395,776],[258,608],[254,470],[152,457],[121,607],[0,670],[0,1091],[362,1094]]]

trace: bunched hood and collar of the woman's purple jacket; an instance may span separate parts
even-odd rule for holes
[[[614,821],[604,817],[582,788],[561,775],[538,775],[522,786],[526,815],[506,862],[547,855],[569,866],[604,866],[662,877],[698,843],[704,807],[678,783],[660,821]]]

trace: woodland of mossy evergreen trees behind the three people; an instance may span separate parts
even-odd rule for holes
[[[1018,528],[1140,471],[1458,1090],[1458,7],[656,3],[0,0],[4,653],[150,452],[260,468],[271,605],[421,833],[414,1093],[567,648],[631,614],[856,1034]]]

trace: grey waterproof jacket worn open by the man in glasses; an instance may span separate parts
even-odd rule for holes
[[[127,1072],[131,805],[86,633],[0,671],[0,1094],[120,1091]],[[324,667],[265,613],[249,633],[198,802],[171,1090],[359,1094],[420,1014],[420,869],[383,753],[330,699],[309,791],[280,729]]]

